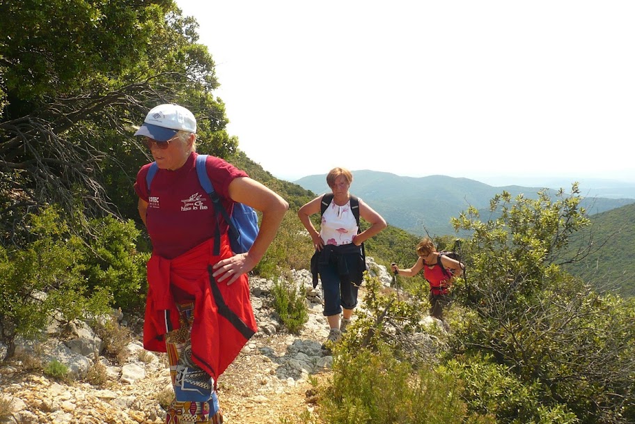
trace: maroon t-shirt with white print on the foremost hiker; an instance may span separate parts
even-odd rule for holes
[[[167,259],[176,258],[215,234],[214,206],[198,182],[196,156],[198,153],[193,152],[187,162],[175,171],[159,169],[152,179],[150,193],[146,187],[146,175],[151,164],[143,165],[136,175],[134,191],[148,202],[146,224],[153,253]],[[214,191],[231,214],[233,201],[229,198],[229,184],[234,178],[248,175],[211,155],[207,157],[205,167]],[[221,233],[226,232],[225,220],[220,215],[218,219]]]

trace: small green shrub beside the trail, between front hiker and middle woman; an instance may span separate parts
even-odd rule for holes
[[[308,321],[306,290],[295,283],[278,280],[272,288],[272,306],[290,333],[297,333]]]

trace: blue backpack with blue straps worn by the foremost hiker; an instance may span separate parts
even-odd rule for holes
[[[232,251],[234,253],[245,253],[249,251],[253,240],[256,240],[256,236],[258,235],[258,214],[256,214],[256,210],[254,210],[253,207],[235,202],[231,217],[229,216],[227,210],[225,210],[225,207],[221,203],[219,195],[214,191],[210,176],[207,175],[207,169],[205,168],[206,159],[207,155],[198,155],[196,157],[198,182],[212,199],[212,204],[214,205],[217,216],[220,213],[225,219],[225,222],[229,225],[229,241]],[[150,183],[152,182],[152,178],[155,178],[157,171],[159,171],[157,162],[152,162],[150,169],[148,169],[148,175],[146,175],[148,191],[150,191]],[[217,220],[216,235],[214,237],[214,255],[219,255],[221,251],[220,235]]]

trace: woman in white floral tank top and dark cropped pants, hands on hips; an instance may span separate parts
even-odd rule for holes
[[[311,262],[317,263],[314,272],[320,275],[322,281],[324,315],[330,327],[328,340],[333,343],[340,339],[357,304],[361,275],[366,269],[361,244],[386,228],[384,218],[359,198],[359,216],[370,223],[370,228],[357,233],[358,224],[348,191],[352,181],[352,174],[345,168],[334,168],[328,173],[327,184],[333,199],[322,214],[320,232],[315,229],[310,217],[320,213],[324,196],[314,198],[298,211],[298,217],[315,246]],[[314,276],[314,281],[317,281],[317,276]],[[343,315],[341,323],[340,314]],[[328,348],[327,345],[322,347]]]

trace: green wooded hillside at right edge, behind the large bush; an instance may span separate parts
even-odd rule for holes
[[[573,244],[583,247],[591,240],[594,247],[583,262],[566,268],[599,288],[618,288],[623,296],[635,296],[635,204],[590,218],[592,225]]]

